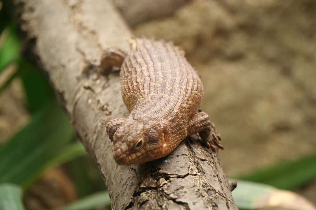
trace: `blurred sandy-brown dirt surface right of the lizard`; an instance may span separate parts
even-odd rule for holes
[[[196,0],[133,30],[185,49],[232,177],[316,152],[315,20],[313,0]]]

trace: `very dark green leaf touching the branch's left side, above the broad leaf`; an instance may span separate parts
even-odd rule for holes
[[[52,87],[43,72],[24,59],[20,59],[18,72],[21,74],[27,98],[27,108],[33,114],[54,96]]]

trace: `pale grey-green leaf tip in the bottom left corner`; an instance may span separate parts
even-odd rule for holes
[[[23,210],[22,190],[18,185],[11,183],[0,184],[0,209]]]

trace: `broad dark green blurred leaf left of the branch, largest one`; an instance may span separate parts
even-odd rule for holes
[[[50,102],[0,148],[0,183],[30,184],[73,138],[67,116]]]

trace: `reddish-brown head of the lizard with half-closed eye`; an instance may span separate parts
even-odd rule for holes
[[[127,118],[113,136],[113,158],[119,165],[148,162],[163,157],[165,134],[154,120]]]

